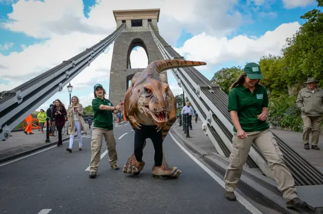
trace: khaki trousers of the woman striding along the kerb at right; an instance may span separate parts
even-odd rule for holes
[[[283,193],[285,200],[289,201],[297,197],[294,178],[283,161],[283,154],[272,132],[267,129],[246,133],[248,137],[244,139],[239,139],[237,133],[233,136],[232,151],[229,157],[230,164],[224,177],[226,190],[230,192],[235,190],[236,184],[242,174],[243,165],[247,160],[250,147],[254,142],[271,168],[278,190]]]

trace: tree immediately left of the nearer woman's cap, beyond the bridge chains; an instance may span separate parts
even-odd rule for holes
[[[236,79],[242,72],[243,70],[240,66],[222,68],[214,74],[214,76],[211,79],[211,83],[219,85],[223,92],[229,94],[229,89],[231,85],[236,81]]]

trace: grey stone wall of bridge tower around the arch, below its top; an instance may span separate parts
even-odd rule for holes
[[[164,59],[161,55],[150,31],[146,32],[122,32],[115,40],[110,71],[109,100],[117,105],[124,100],[127,87],[127,58],[128,49],[134,39],[141,39],[147,50],[149,63]],[[163,72],[167,76],[167,72]]]

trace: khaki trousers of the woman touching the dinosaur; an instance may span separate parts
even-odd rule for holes
[[[118,156],[116,151],[116,139],[113,130],[92,128],[90,172],[97,172],[101,161],[101,147],[103,136],[105,138],[107,154],[109,155],[110,166],[117,164]]]

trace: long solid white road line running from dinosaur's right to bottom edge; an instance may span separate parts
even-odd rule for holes
[[[197,163],[207,174],[209,174],[214,180],[216,180],[223,188],[225,188],[224,181],[219,178],[216,174],[214,174],[211,170],[209,170],[204,164],[202,164],[199,160],[197,160],[190,152],[188,152],[173,136],[171,132],[169,132],[173,140],[176,144],[193,160]],[[244,197],[242,197],[239,193],[235,192],[237,200],[244,205],[252,214],[263,214],[256,207],[254,207],[249,201],[247,201]]]

